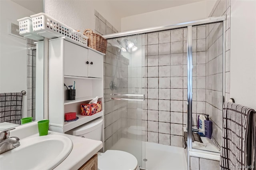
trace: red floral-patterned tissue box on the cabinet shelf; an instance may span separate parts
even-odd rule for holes
[[[101,111],[101,101],[98,101],[97,104],[81,104],[81,115],[94,115]]]

